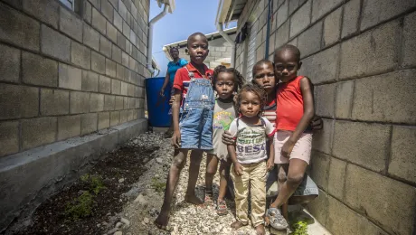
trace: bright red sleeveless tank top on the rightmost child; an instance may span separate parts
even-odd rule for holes
[[[276,129],[294,131],[303,116],[303,98],[300,90],[300,79],[279,83],[276,109]]]

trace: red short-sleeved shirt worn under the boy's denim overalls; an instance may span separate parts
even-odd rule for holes
[[[208,69],[205,64],[203,64],[205,68],[205,76],[206,79],[211,79],[211,76],[213,76],[213,70]],[[188,70],[186,70],[186,68]],[[186,98],[186,92],[188,92],[189,82],[191,81],[191,78],[189,78],[188,71],[194,72],[194,78],[195,79],[202,79],[203,75],[195,69],[194,65],[192,63],[186,64],[183,68],[176,71],[175,74],[175,80],[174,80],[174,88],[182,90],[182,100]]]

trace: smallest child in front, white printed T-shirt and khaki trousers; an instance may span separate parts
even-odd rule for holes
[[[257,234],[264,234],[263,215],[266,210],[267,172],[273,168],[274,128],[260,114],[266,101],[266,92],[260,87],[247,84],[237,96],[237,107],[241,118],[235,118],[230,133],[236,138],[236,145],[228,146],[232,159],[235,207],[237,221],[233,229],[239,229],[249,222],[248,195],[251,191],[251,223]],[[266,139],[269,138],[269,160],[267,160]],[[267,163],[266,163],[267,160]],[[249,185],[250,183],[250,185]]]

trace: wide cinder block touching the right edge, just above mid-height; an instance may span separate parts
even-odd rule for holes
[[[415,124],[415,76],[409,70],[355,80],[353,118]]]

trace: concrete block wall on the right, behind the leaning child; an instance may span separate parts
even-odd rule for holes
[[[309,210],[336,235],[415,234],[416,2],[272,2],[269,59],[298,46],[324,119],[309,167],[320,195]],[[261,26],[256,36],[261,56]],[[240,70],[244,53],[238,45]]]

